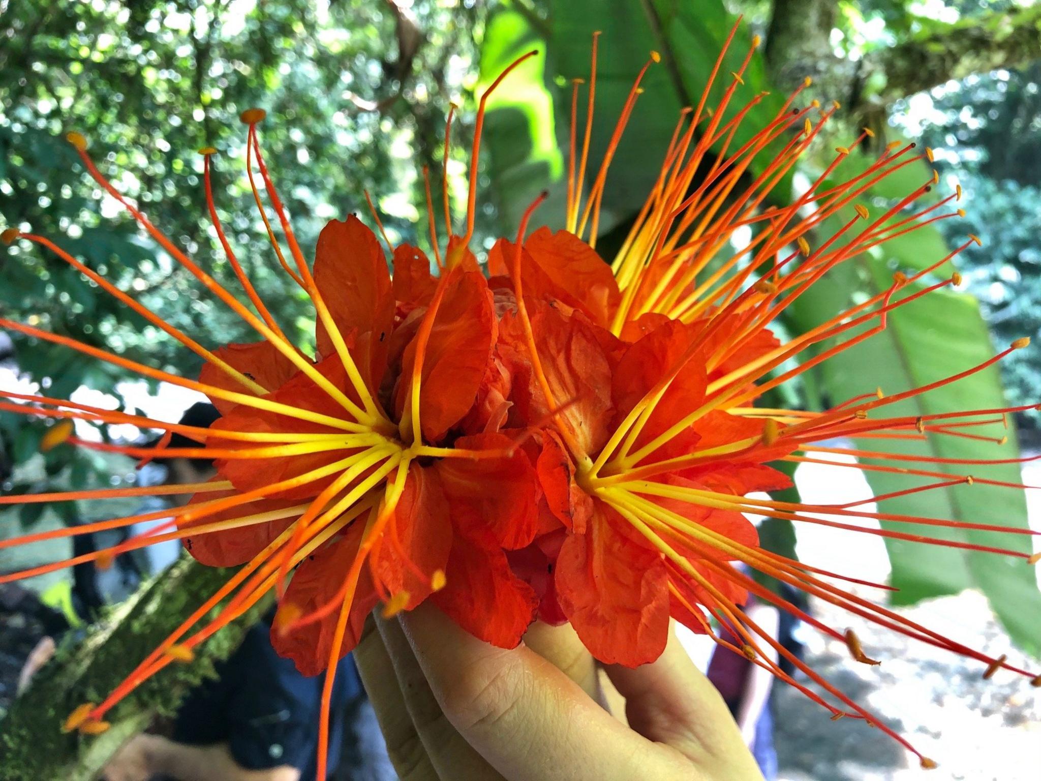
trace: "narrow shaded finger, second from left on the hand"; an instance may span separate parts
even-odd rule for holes
[[[436,608],[434,609],[436,612]],[[403,694],[405,707],[422,741],[429,761],[446,781],[502,781],[474,748],[446,719],[440,705],[430,690],[430,684],[420,667],[401,624],[397,620],[377,619],[380,637],[393,662],[395,674]]]

